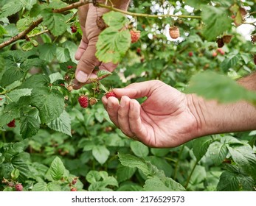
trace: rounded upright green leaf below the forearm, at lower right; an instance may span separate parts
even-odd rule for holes
[[[228,154],[226,144],[215,141],[209,147],[209,154],[215,165],[220,165]]]

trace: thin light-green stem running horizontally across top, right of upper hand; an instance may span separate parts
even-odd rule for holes
[[[173,15],[173,14],[166,14],[166,15],[151,15],[151,14],[145,14],[145,13],[131,13],[131,12],[127,12],[124,10],[119,10],[117,8],[114,7],[110,7],[107,6],[105,4],[97,4],[97,7],[103,7],[106,8],[108,10],[112,10],[115,12],[119,12],[119,13],[123,13],[125,15],[131,15],[131,16],[136,16],[136,17],[151,17],[151,18],[159,18],[159,17],[178,17],[178,18],[201,18],[201,16],[198,15]]]

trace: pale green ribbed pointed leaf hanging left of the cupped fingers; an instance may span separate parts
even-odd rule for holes
[[[62,132],[63,134],[69,135],[71,134],[71,119],[69,113],[63,110],[63,113],[60,114],[58,118],[55,118],[51,122],[47,124],[47,126],[55,131]]]

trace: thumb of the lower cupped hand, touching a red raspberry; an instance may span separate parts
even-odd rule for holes
[[[138,99],[145,96],[151,96],[153,91],[162,85],[165,85],[165,83],[159,80],[151,80],[146,82],[133,83],[125,88],[115,88],[113,91],[117,97],[128,96],[131,99]]]

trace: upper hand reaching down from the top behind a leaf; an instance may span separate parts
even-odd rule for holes
[[[107,1],[110,6],[117,7],[121,10],[127,10],[130,0]],[[105,1],[99,1],[105,3]],[[113,63],[101,63],[96,53],[96,43],[101,30],[96,24],[97,17],[102,16],[103,13],[107,13],[109,10],[100,7],[94,7],[93,4],[86,4],[78,9],[78,17],[80,26],[83,31],[83,36],[80,41],[80,45],[75,54],[75,59],[78,60],[77,69],[75,71],[74,88],[81,88],[86,83],[89,83],[88,79],[96,79],[97,71],[94,70],[95,66],[100,70],[114,71],[117,64]]]

